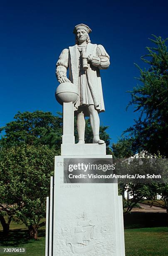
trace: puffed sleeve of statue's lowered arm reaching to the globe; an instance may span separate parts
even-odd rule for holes
[[[56,64],[56,77],[57,80],[61,79],[62,77],[67,77],[67,69],[68,69],[68,55],[69,50],[64,49],[59,56],[59,60]]]

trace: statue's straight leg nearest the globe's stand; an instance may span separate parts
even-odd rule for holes
[[[77,131],[79,137],[78,144],[84,144],[85,118],[82,110],[79,110],[77,115]]]

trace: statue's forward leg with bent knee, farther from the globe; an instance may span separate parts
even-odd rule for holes
[[[94,105],[88,106],[90,115],[90,124],[93,131],[93,143],[103,144],[104,141],[99,138],[100,119],[97,110]]]

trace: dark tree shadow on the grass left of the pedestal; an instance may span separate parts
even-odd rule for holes
[[[38,237],[44,236],[45,230],[39,230]],[[0,232],[0,246],[22,246],[25,243],[33,243],[34,241],[34,239],[29,238],[27,228],[10,230],[7,236],[4,236],[2,231]]]

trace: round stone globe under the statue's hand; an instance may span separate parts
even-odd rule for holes
[[[70,82],[59,84],[55,92],[56,100],[63,105],[63,103],[75,103],[79,97],[79,91],[76,85]]]

